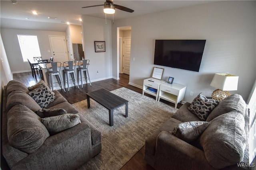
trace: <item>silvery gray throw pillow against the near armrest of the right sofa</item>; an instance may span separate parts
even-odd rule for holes
[[[170,133],[189,143],[196,140],[208,125],[206,121],[188,121],[178,124]]]

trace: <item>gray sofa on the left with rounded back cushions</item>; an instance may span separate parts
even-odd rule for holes
[[[46,85],[43,81],[38,84]],[[100,153],[100,131],[57,90],[52,92],[55,99],[46,109],[62,108],[76,113],[81,122],[55,135],[50,135],[40,122],[35,111],[41,107],[28,95],[23,83],[12,80],[4,87],[2,154],[12,170],[72,170]]]

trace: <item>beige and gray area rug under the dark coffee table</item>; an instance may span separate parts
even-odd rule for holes
[[[174,107],[127,88],[111,92],[129,101],[128,117],[125,106],[115,109],[112,127],[108,110],[94,100],[90,99],[90,109],[87,100],[72,104],[102,135],[102,151],[79,170],[119,170],[144,146],[146,138],[176,112]]]

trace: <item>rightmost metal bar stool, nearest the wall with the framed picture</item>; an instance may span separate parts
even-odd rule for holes
[[[90,85],[92,86],[90,76],[89,76],[89,72],[88,72],[89,63],[90,63],[90,60],[78,61],[78,75],[77,75],[78,76],[78,83],[79,83],[79,80],[81,80],[82,88],[83,88],[83,78],[85,79],[86,84],[87,84],[87,80],[89,80]],[[82,77],[82,72],[84,72],[84,77]],[[80,78],[79,78],[79,75],[80,75]]]

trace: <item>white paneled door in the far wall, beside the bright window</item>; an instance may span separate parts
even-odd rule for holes
[[[68,61],[68,55],[66,50],[66,43],[64,36],[52,36],[50,35],[50,45],[52,49],[52,57],[54,61],[64,62]]]

